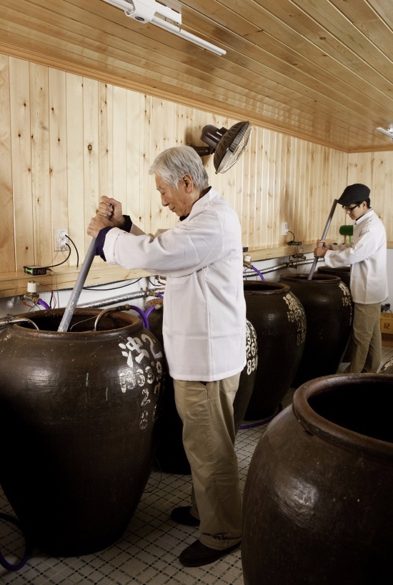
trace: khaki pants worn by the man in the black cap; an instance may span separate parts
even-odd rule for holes
[[[379,326],[381,304],[354,304],[353,349],[347,372],[378,371],[382,359],[382,336]]]

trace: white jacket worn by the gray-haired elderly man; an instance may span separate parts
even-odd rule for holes
[[[246,304],[239,218],[210,189],[174,229],[151,236],[108,231],[109,264],[166,276],[163,337],[169,374],[213,381],[246,364]]]

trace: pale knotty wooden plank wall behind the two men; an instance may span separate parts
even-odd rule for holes
[[[54,251],[56,227],[66,227],[83,259],[102,194],[119,199],[145,231],[174,226],[149,176],[154,157],[169,146],[203,144],[206,124],[238,121],[1,55],[0,98],[0,277],[63,261],[64,252]],[[347,179],[372,184],[392,240],[392,159],[392,152],[348,155],[254,127],[226,174],[214,173],[213,156],[204,164],[239,214],[243,245],[264,258],[282,256],[292,239],[282,236],[282,221],[311,249]],[[330,233],[338,236],[342,223],[335,214]],[[61,269],[75,265],[71,246]]]

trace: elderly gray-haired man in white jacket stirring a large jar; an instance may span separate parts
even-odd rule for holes
[[[88,234],[110,264],[166,276],[164,350],[192,475],[191,506],[175,508],[171,519],[199,526],[179,560],[201,566],[241,540],[233,402],[246,364],[242,231],[190,146],[161,152],[150,174],[161,204],[179,216],[175,228],[144,234],[104,196]]]

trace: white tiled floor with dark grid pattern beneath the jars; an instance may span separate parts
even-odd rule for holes
[[[393,347],[384,346],[383,350],[382,364],[393,356]],[[344,364],[339,371],[342,369]],[[283,406],[291,404],[292,396],[291,390],[285,396]],[[266,425],[240,429],[237,435],[242,486],[254,448],[264,429]],[[174,524],[169,514],[175,506],[189,504],[189,489],[189,476],[153,471],[128,529],[114,546],[96,554],[66,559],[56,559],[34,550],[19,571],[6,571],[0,566],[0,583],[243,585],[239,549],[217,563],[197,569],[185,568],[179,563],[181,550],[197,538],[198,530]],[[0,511],[14,515],[1,489]],[[18,562],[24,553],[21,534],[12,524],[4,521],[0,521],[0,552],[11,564]]]

